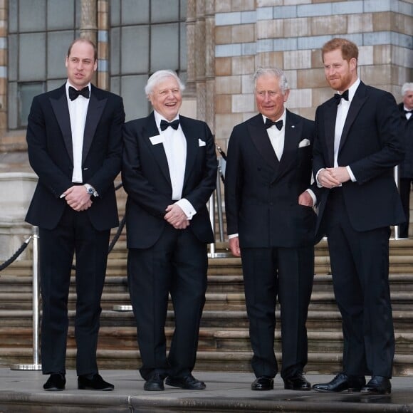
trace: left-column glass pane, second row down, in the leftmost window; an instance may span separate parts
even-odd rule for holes
[[[22,34],[19,40],[19,80],[44,80],[46,78],[46,34]]]

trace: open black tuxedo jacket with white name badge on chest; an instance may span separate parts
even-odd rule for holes
[[[208,125],[179,115],[187,140],[182,198],[197,211],[188,227],[199,241],[214,242],[206,203],[216,186],[217,162],[214,138]],[[125,123],[122,182],[128,194],[126,226],[128,248],[149,248],[160,238],[165,225],[165,209],[172,201],[164,145],[152,112],[148,117]],[[151,137],[155,139],[150,140]]]

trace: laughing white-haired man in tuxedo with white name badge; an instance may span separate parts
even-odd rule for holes
[[[145,390],[203,390],[192,376],[205,303],[206,244],[214,242],[206,202],[216,185],[208,125],[179,115],[184,86],[159,70],[145,93],[154,111],[124,127],[122,181],[127,192],[127,277],[137,323]],[[175,330],[164,333],[168,295]]]

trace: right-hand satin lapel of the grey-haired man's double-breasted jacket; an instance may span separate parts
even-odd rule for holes
[[[284,149],[278,168],[278,177],[288,172],[291,167],[296,167],[297,150],[302,137],[303,124],[297,122],[297,119],[287,110],[286,126],[284,132]],[[304,137],[303,137],[304,138]]]

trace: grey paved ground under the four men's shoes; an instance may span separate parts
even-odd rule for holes
[[[325,394],[284,390],[276,377],[270,392],[253,392],[250,373],[194,372],[206,390],[187,391],[165,386],[164,392],[145,392],[135,370],[102,370],[113,392],[77,390],[77,377],[68,371],[64,392],[45,392],[46,376],[38,371],[0,369],[0,413],[3,412],[413,412],[413,377],[394,377],[390,396],[360,393]],[[312,383],[331,376],[307,375]]]

